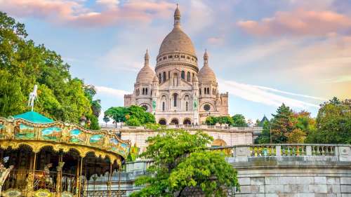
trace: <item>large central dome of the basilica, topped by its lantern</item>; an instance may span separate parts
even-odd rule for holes
[[[164,38],[164,41],[162,41],[159,48],[159,55],[174,52],[188,53],[189,55],[196,56],[192,40],[180,27],[180,11],[178,7],[174,12],[174,28]]]

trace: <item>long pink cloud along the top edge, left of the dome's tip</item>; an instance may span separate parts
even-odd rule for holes
[[[102,11],[86,8],[84,1],[74,0],[0,0],[0,10],[23,18],[40,18],[62,25],[95,27],[116,25],[120,22],[150,22],[169,15],[174,4],[165,1],[132,0],[97,1]]]

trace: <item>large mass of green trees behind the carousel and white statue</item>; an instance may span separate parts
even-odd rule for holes
[[[29,110],[27,96],[35,84],[39,85],[35,111],[75,123],[92,114],[83,81],[72,79],[60,55],[26,37],[25,25],[0,12],[0,116]]]

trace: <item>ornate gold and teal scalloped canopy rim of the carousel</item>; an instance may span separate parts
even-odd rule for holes
[[[121,140],[107,130],[87,130],[77,123],[32,123],[22,118],[0,118],[0,147],[18,149],[22,144],[36,153],[50,146],[54,151],[75,149],[81,157],[92,152],[117,162],[121,162],[119,156],[126,158],[131,148],[129,140]]]

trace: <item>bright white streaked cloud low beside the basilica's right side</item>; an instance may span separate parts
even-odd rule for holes
[[[238,83],[236,81],[226,81],[218,80],[220,83],[220,88],[222,90],[227,90],[231,95],[240,97],[244,100],[249,100],[251,102],[259,102],[269,106],[279,107],[282,103],[288,105],[289,107],[306,109],[310,107],[318,108],[319,106],[314,103],[305,102],[303,100],[293,99],[291,97],[286,97],[284,95],[295,95],[298,97],[306,98],[317,98],[309,95],[300,95],[296,93],[289,93],[282,90],[276,90],[274,88],[268,88],[263,86],[254,86],[246,83]],[[282,93],[283,95],[278,95],[277,93]],[[322,100],[317,98],[317,100]]]

